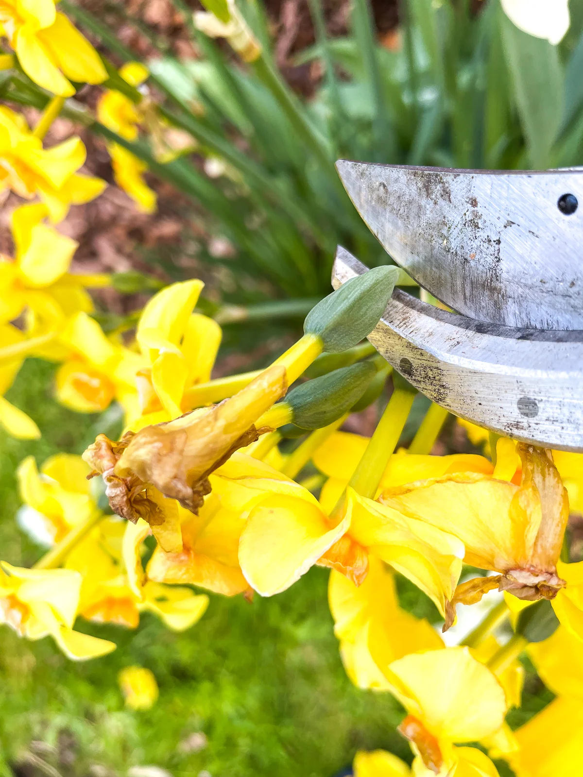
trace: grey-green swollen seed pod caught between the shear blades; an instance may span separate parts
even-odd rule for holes
[[[347,280],[312,308],[304,332],[321,337],[330,354],[360,343],[379,323],[398,277],[396,267],[375,267]]]

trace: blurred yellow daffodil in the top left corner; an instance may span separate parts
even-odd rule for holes
[[[5,35],[31,81],[55,95],[75,94],[71,81],[100,84],[107,78],[99,54],[54,0],[2,0],[0,33]]]

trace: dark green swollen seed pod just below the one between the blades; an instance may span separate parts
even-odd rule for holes
[[[302,383],[285,398],[293,422],[302,429],[327,427],[358,402],[375,375],[375,365],[365,361]]]

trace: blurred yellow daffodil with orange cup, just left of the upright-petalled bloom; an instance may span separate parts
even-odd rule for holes
[[[136,375],[145,359],[103,333],[99,323],[80,311],[59,336],[67,357],[56,375],[61,404],[79,413],[99,413],[117,399],[128,415],[138,413]]]

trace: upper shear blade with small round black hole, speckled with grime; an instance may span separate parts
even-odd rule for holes
[[[421,286],[482,321],[583,329],[583,172],[337,162],[368,227]],[[558,203],[580,203],[564,214]]]

